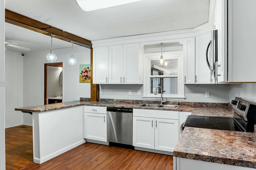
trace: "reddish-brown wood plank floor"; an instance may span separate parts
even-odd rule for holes
[[[23,125],[24,126],[24,125]],[[22,126],[22,127],[23,127]],[[25,127],[25,126],[24,126]],[[16,127],[15,127],[16,128]],[[9,128],[11,129],[11,128]],[[21,127],[17,127],[21,129]],[[26,128],[28,129],[27,126]],[[10,135],[10,134],[9,134]],[[20,134],[21,135],[21,134]],[[21,135],[22,136],[22,135]],[[25,136],[25,135],[24,135]],[[8,134],[6,134],[8,138]],[[32,135],[30,137],[32,146]],[[16,145],[16,144],[14,144]],[[28,144],[27,144],[28,145]],[[6,155],[6,170],[18,168],[23,162],[27,163],[22,170],[172,170],[172,156],[164,154],[155,154],[138,150],[124,149],[119,147],[110,147],[94,143],[84,143],[68,152],[65,152],[42,164],[32,163],[32,148],[26,148],[24,145],[16,146],[13,157]],[[7,145],[6,145],[7,146]],[[8,144],[8,147],[11,146]],[[21,147],[22,149],[18,149]],[[7,147],[6,147],[7,149]],[[26,151],[25,151],[26,150]],[[29,153],[29,154],[28,154]],[[10,154],[10,153],[9,153]],[[16,157],[16,154],[23,158]],[[30,157],[28,156],[30,155]],[[11,159],[8,160],[7,159]],[[8,162],[8,167],[7,167]],[[11,165],[14,163],[14,165]],[[17,166],[18,164],[18,166]]]

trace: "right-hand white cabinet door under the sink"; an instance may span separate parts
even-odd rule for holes
[[[179,140],[179,120],[155,119],[155,149],[173,152]]]

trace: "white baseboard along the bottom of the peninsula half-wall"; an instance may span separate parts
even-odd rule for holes
[[[73,149],[75,147],[78,147],[79,145],[82,145],[83,143],[85,143],[84,139],[82,139],[81,141],[78,141],[77,143],[74,143],[74,144],[72,144],[72,145],[70,145],[66,148],[60,149],[60,150],[58,150],[58,151],[56,151],[52,154],[44,156],[43,158],[34,158],[34,162],[37,163],[37,164],[42,164],[42,163],[46,162],[47,160],[50,160],[50,159],[52,159],[52,158],[54,158],[54,157],[56,157],[56,156],[58,156],[58,155],[60,155],[64,152],[70,150],[70,149]]]

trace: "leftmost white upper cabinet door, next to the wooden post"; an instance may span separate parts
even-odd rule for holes
[[[108,84],[108,46],[93,49],[93,83]]]

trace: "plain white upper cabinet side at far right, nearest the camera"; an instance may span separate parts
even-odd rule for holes
[[[228,0],[228,82],[256,82],[256,0]]]

